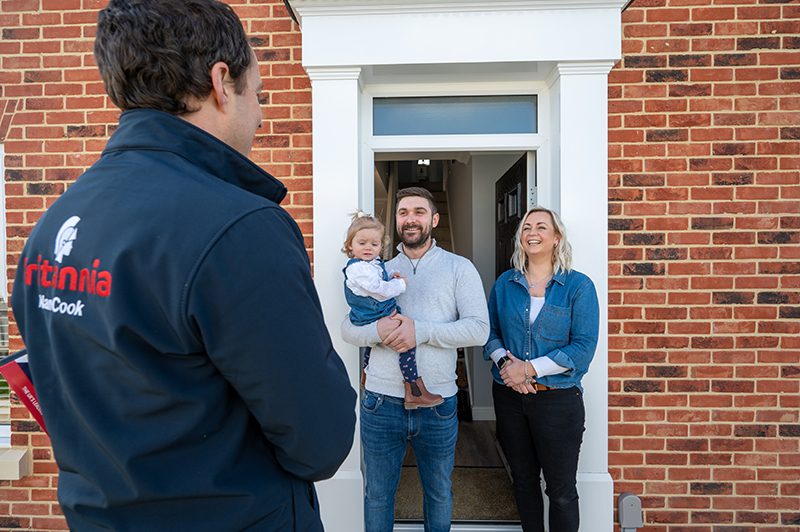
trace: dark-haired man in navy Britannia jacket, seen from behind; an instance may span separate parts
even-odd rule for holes
[[[286,188],[253,164],[255,55],[216,0],[111,0],[95,56],[123,109],[44,214],[13,308],[73,530],[321,530],[350,451]]]

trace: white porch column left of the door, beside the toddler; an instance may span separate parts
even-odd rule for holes
[[[341,339],[339,326],[348,308],[343,295],[341,253],[350,223],[346,213],[359,203],[360,68],[307,68],[313,104],[314,283],[333,345],[342,357],[350,383],[358,390],[358,349]],[[309,420],[313,423],[313,420]],[[361,442],[336,475],[317,484],[326,530],[358,531],[364,523]]]

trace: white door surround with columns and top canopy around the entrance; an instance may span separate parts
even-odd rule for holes
[[[347,313],[339,249],[347,213],[356,207],[373,208],[374,153],[536,150],[539,202],[560,212],[570,229],[575,266],[594,280],[601,302],[600,340],[584,379],[587,431],[578,481],[582,529],[603,532],[613,528],[606,388],[607,77],[621,55],[624,3],[290,2],[302,26],[303,65],[312,86],[315,282],[351,383],[358,386],[358,353],[339,334]],[[502,33],[503,39],[475,38],[492,32]],[[421,43],[413,35],[429,38]],[[530,87],[536,87],[539,95],[537,135],[375,138],[371,134],[371,101],[376,94],[497,94]],[[318,484],[323,521],[334,532],[363,527],[360,454],[356,438],[339,472]]]

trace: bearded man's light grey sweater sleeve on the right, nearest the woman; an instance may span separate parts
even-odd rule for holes
[[[417,345],[455,349],[482,346],[489,337],[489,313],[480,275],[471,262],[464,259],[456,278],[458,319],[449,323],[415,321]]]

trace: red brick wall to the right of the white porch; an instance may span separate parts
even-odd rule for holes
[[[642,495],[647,530],[798,530],[800,4],[636,0],[623,21],[615,491]]]

